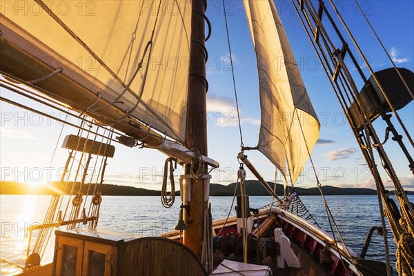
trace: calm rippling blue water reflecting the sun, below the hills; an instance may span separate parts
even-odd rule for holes
[[[24,228],[30,224],[40,224],[48,208],[49,196],[35,195],[1,195],[1,236],[0,257],[8,262],[24,266],[28,239]],[[328,233],[328,223],[320,197],[301,197],[319,225]],[[359,253],[364,245],[366,234],[371,226],[380,226],[377,196],[328,196],[326,197],[331,212],[342,230],[346,244]],[[411,195],[410,200],[413,201]],[[179,198],[177,198],[179,200]],[[226,217],[232,197],[210,197],[213,206],[213,219]],[[259,208],[270,203],[270,197],[250,197],[250,207]],[[160,235],[172,230],[177,224],[179,202],[166,209],[161,205],[159,197],[103,197],[99,228],[121,230],[139,235]],[[232,215],[235,215],[234,211]],[[395,244],[388,239],[392,253]],[[48,252],[43,256],[43,264],[52,261],[51,237]],[[384,261],[384,243],[382,237],[375,234],[366,255],[367,259]],[[392,261],[395,257],[392,254]],[[0,263],[0,274],[11,275],[21,270],[4,262]]]

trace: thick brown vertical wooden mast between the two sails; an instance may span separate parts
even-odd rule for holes
[[[190,78],[188,80],[188,120],[186,128],[186,146],[199,150],[207,156],[207,111],[206,111],[206,55],[204,52],[204,12],[207,1],[193,0],[191,18]],[[204,167],[207,174],[207,166]],[[185,175],[190,175],[190,164],[186,164]],[[190,203],[186,210],[184,244],[201,259],[201,244],[204,235],[204,210],[208,200],[204,201],[204,187],[208,179],[188,178],[190,184]]]

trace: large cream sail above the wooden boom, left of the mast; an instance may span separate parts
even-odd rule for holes
[[[52,14],[39,6],[42,3]],[[114,104],[127,115],[149,122],[151,128],[184,141],[190,1],[12,1],[1,5],[0,16],[3,39],[52,68],[63,68],[61,74],[95,93],[101,92],[109,103],[124,91],[145,57],[130,85],[132,92]],[[144,50],[156,19],[148,59],[150,46],[145,54]],[[147,67],[145,89],[141,91]],[[141,102],[134,108],[138,99]]]

